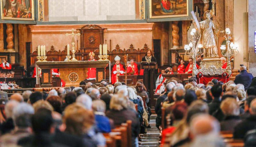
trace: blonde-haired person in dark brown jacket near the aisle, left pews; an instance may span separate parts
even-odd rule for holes
[[[123,95],[113,95],[110,100],[110,110],[106,116],[114,121],[115,125],[121,125],[127,120],[132,120],[132,146],[138,146],[137,136],[140,133],[140,122],[137,112],[128,107],[129,99]]]

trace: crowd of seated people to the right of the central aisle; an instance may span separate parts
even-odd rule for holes
[[[167,80],[155,105],[161,145],[226,146],[220,133],[228,131],[245,146],[256,146],[256,87],[247,74],[227,83],[212,79],[206,85],[197,84],[195,77],[185,86]]]

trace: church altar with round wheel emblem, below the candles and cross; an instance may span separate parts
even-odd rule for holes
[[[59,69],[60,78],[66,82],[66,86],[79,86],[79,83],[87,78],[86,68],[96,68],[96,82],[106,79],[105,68],[110,61],[52,61],[36,62],[36,75],[38,68],[42,70],[42,84],[36,76],[36,87],[52,87],[52,70]],[[109,66],[110,68],[110,66]],[[111,71],[109,69],[109,71]],[[111,82],[111,77],[109,77]]]

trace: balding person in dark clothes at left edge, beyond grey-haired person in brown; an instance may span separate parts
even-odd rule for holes
[[[17,107],[20,103],[17,101],[9,101],[4,107],[6,121],[1,125],[1,134],[5,134],[10,132],[14,128],[12,112],[15,107]]]

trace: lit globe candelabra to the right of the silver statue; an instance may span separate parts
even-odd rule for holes
[[[225,32],[226,32],[226,34],[224,35],[224,37],[225,37],[225,40],[226,40],[227,47],[226,47],[226,45],[221,45],[220,50],[221,50],[222,56],[228,58],[226,73],[228,75],[231,75],[232,72],[231,72],[230,58],[235,57],[238,54],[239,51],[237,50],[238,45],[236,43],[235,44],[233,42],[230,43],[230,40],[232,39],[230,37],[230,29],[226,28]]]

